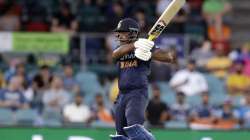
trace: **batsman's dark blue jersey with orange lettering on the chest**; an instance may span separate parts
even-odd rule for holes
[[[117,60],[119,69],[119,90],[129,92],[135,89],[147,89],[150,74],[150,61],[141,61],[131,52]]]

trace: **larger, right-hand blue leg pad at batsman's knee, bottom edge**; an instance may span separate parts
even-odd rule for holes
[[[154,136],[142,125],[135,124],[123,128],[130,140],[155,140]]]

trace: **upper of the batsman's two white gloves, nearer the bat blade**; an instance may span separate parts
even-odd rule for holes
[[[135,43],[134,46],[136,49],[140,49],[144,52],[149,52],[153,47],[155,43],[153,41],[150,41],[145,38],[139,38]]]

